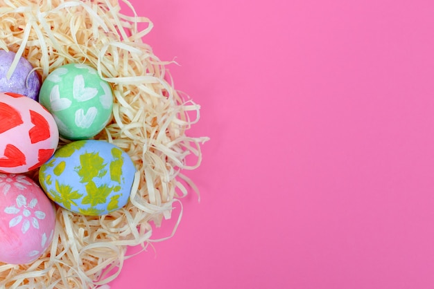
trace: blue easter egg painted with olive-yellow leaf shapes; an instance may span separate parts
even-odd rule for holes
[[[47,196],[71,212],[108,214],[126,205],[135,174],[125,151],[102,140],[77,140],[40,168]]]

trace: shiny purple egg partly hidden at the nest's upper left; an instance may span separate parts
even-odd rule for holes
[[[33,66],[24,57],[20,57],[14,73],[8,80],[10,65],[16,53],[0,50],[0,92],[18,93],[38,100],[41,88],[40,76],[33,70]]]

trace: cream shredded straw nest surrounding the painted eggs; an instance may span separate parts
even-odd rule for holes
[[[195,189],[181,171],[198,167],[207,140],[185,134],[199,106],[173,88],[168,63],[142,41],[153,24],[124,3],[133,16],[122,14],[116,0],[0,0],[0,48],[26,57],[42,80],[58,66],[85,63],[110,82],[114,118],[95,138],[121,147],[137,167],[130,202],[112,214],[81,216],[56,207],[49,250],[31,264],[0,263],[1,288],[98,288],[112,281],[126,248],[146,248],[150,223],[170,218],[173,203]],[[193,165],[186,163],[189,154],[196,156]]]

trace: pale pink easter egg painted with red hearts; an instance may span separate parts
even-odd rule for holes
[[[58,142],[58,127],[42,105],[23,95],[0,93],[0,172],[40,167]]]

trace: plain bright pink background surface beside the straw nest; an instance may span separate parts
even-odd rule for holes
[[[211,141],[112,288],[434,288],[433,1],[132,3]]]

